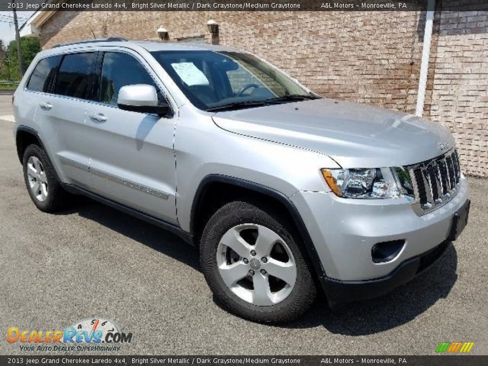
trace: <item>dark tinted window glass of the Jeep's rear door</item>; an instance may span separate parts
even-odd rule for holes
[[[54,93],[68,97],[89,99],[93,83],[96,53],[74,53],[63,58],[56,77]]]

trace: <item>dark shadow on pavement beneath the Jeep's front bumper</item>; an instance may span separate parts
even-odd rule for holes
[[[457,253],[449,245],[439,260],[411,282],[371,300],[343,304],[329,310],[319,298],[290,328],[324,326],[331,333],[367,335],[401,326],[446,298],[457,280]]]

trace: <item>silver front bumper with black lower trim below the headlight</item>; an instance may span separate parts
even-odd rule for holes
[[[333,193],[297,192],[292,201],[324,268],[319,277],[327,294],[333,298],[334,292],[343,292],[332,300],[343,302],[386,293],[415,277],[425,267],[422,258],[434,253],[439,257],[449,241],[453,217],[468,197],[463,177],[448,203],[423,216],[417,216],[404,198],[352,200]],[[373,262],[375,243],[390,240],[405,240],[400,253],[387,262]]]

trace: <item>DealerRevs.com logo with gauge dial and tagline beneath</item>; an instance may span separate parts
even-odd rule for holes
[[[81,320],[64,330],[21,330],[18,327],[7,329],[7,342],[19,343],[21,351],[48,351],[53,348],[58,351],[73,351],[77,345],[104,343],[108,346],[131,341],[132,333],[121,332],[112,321],[102,318]],[[32,344],[38,345],[37,349],[29,346]],[[103,347],[105,348],[107,347]],[[97,350],[102,348],[98,347]]]

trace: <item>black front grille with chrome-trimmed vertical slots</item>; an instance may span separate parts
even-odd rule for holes
[[[449,202],[459,189],[461,169],[456,149],[406,169],[414,190],[412,207],[419,216]]]

